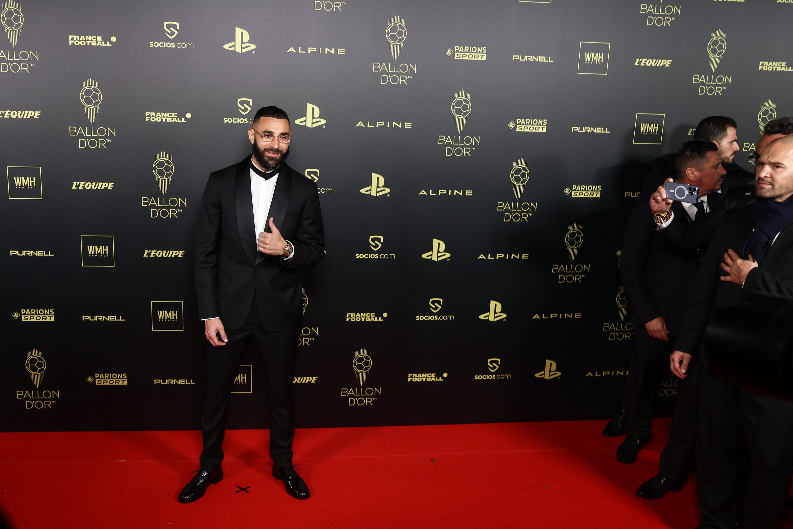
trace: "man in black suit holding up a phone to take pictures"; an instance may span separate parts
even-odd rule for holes
[[[677,151],[674,160],[676,181],[699,186],[696,205],[676,202],[672,211],[693,220],[716,207],[722,195],[715,193],[725,174],[718,148],[713,142],[691,140]],[[630,464],[649,439],[650,417],[657,393],[662,362],[672,351],[670,335],[676,336],[688,302],[686,289],[674,289],[668,278],[694,277],[699,253],[680,250],[657,232],[647,197],[639,197],[626,222],[623,255],[619,272],[633,313],[634,351],[626,380],[628,395],[626,438],[617,449],[617,460]],[[641,328],[645,332],[641,331]],[[690,442],[693,444],[693,436]],[[682,473],[685,462],[682,462]]]

